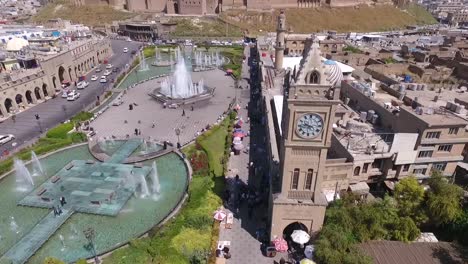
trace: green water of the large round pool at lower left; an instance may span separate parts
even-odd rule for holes
[[[105,144],[105,143],[103,143]],[[108,148],[110,154],[115,152]],[[137,154],[139,149],[134,153]],[[35,186],[49,181],[59,170],[73,160],[94,160],[87,145],[80,145],[53,153],[41,158],[40,162],[47,176],[34,177]],[[27,263],[42,263],[48,256],[65,262],[92,257],[86,249],[87,240],[83,230],[96,231],[95,245],[98,254],[103,254],[141,236],[163,221],[182,200],[188,186],[188,170],[184,160],[171,152],[156,159],[140,162],[139,166],[151,167],[156,161],[159,172],[161,193],[157,197],[139,198],[135,193],[116,216],[104,216],[75,212]],[[32,164],[26,167],[32,170]],[[18,201],[37,190],[18,190],[15,171],[4,175],[0,180],[0,257],[28,234],[41,219],[51,212],[49,209],[19,206]],[[17,227],[12,225],[14,218]],[[19,231],[19,232],[18,232]],[[18,232],[18,233],[17,233]],[[63,238],[63,240],[61,239]]]

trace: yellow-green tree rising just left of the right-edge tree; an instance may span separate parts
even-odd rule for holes
[[[407,177],[400,180],[395,186],[394,197],[400,217],[410,217],[417,225],[426,221],[427,216],[422,208],[424,188],[415,177]]]

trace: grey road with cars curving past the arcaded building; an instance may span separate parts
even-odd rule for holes
[[[133,56],[131,55],[131,52],[123,53],[124,47],[128,47],[130,51],[136,50],[141,45],[141,43],[126,42],[123,40],[111,41],[114,55],[108,60],[108,62],[114,65],[114,67],[124,69],[125,64],[129,63]],[[47,102],[40,103],[19,114],[16,114],[15,121],[13,121],[12,118],[9,118],[1,123],[0,135],[13,134],[16,139],[2,145],[0,147],[0,154],[5,150],[11,152],[15,148],[21,147],[21,145],[23,145],[25,142],[29,142],[42,134],[39,123],[35,118],[36,114],[38,114],[40,117],[39,122],[42,130],[46,131],[47,129],[55,127],[60,122],[71,118],[85,107],[96,102],[97,96],[101,95],[105,89],[108,89],[112,86],[112,83],[110,82],[102,84],[99,83],[99,80],[90,80],[93,74],[96,74],[98,77],[102,75],[105,70],[105,66],[101,65],[100,68],[103,70],[102,72],[95,73],[94,71],[91,71],[86,75],[86,80],[90,84],[84,90],[78,90],[80,93],[80,98],[78,98],[78,100],[67,101],[65,98],[62,98],[61,95],[59,95],[54,99],[49,99]],[[108,77],[108,80],[117,79],[117,73],[112,73],[112,75]],[[15,146],[13,146],[14,143],[16,143]]]

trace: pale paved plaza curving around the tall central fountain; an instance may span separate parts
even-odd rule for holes
[[[175,130],[180,129],[180,143],[184,145],[207,125],[214,124],[238,93],[238,89],[234,88],[235,81],[221,70],[192,73],[193,82],[201,78],[206,86],[216,89],[214,97],[209,101],[164,109],[160,102],[148,95],[159,87],[162,80],[154,79],[127,90],[122,97],[124,103],[111,106],[92,122],[91,127],[95,129],[98,138],[134,136],[135,129],[139,129],[141,137],[173,143],[178,140]],[[129,110],[130,104],[135,105],[133,110]],[[185,116],[182,115],[183,111]]]

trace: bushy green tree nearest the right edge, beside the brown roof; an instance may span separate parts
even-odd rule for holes
[[[430,221],[441,225],[457,219],[462,213],[463,189],[448,183],[437,171],[429,179],[429,187],[426,203]]]

